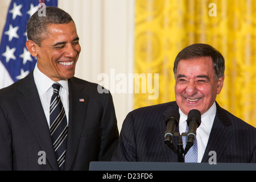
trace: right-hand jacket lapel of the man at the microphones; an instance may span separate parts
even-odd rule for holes
[[[207,144],[207,148],[205,149],[204,156],[202,162],[209,161],[209,152],[215,151],[217,155],[217,162],[221,158],[223,152],[227,144],[229,143],[230,138],[232,137],[232,133],[229,130],[230,122],[228,116],[226,115],[226,111],[222,109],[216,102],[217,111],[216,117],[214,118],[212,130],[210,131],[210,136]]]

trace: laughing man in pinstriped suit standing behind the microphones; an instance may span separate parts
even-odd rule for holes
[[[185,162],[208,162],[216,154],[217,163],[255,163],[255,127],[215,101],[224,84],[224,70],[224,57],[207,44],[192,44],[180,51],[174,63],[176,101],[131,111],[123,122],[112,161],[178,162],[177,154],[164,144],[166,117],[170,111],[179,112],[175,132],[185,133],[188,113],[196,109],[201,124]],[[178,140],[172,137],[176,148]]]

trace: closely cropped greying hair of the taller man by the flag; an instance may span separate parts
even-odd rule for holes
[[[27,22],[27,38],[38,46],[41,46],[43,39],[46,38],[47,27],[50,24],[67,24],[73,21],[68,13],[58,7],[47,6],[45,8],[46,16],[39,16],[36,11]]]

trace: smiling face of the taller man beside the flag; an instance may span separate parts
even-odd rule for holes
[[[75,75],[81,47],[73,21],[67,24],[50,24],[41,46],[36,45],[38,69],[53,81]]]

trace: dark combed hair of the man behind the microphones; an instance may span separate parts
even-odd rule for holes
[[[215,71],[216,80],[224,76],[225,60],[217,49],[208,44],[192,44],[181,50],[174,61],[174,75],[177,73],[177,65],[180,60],[194,59],[197,57],[212,57],[213,68]]]

